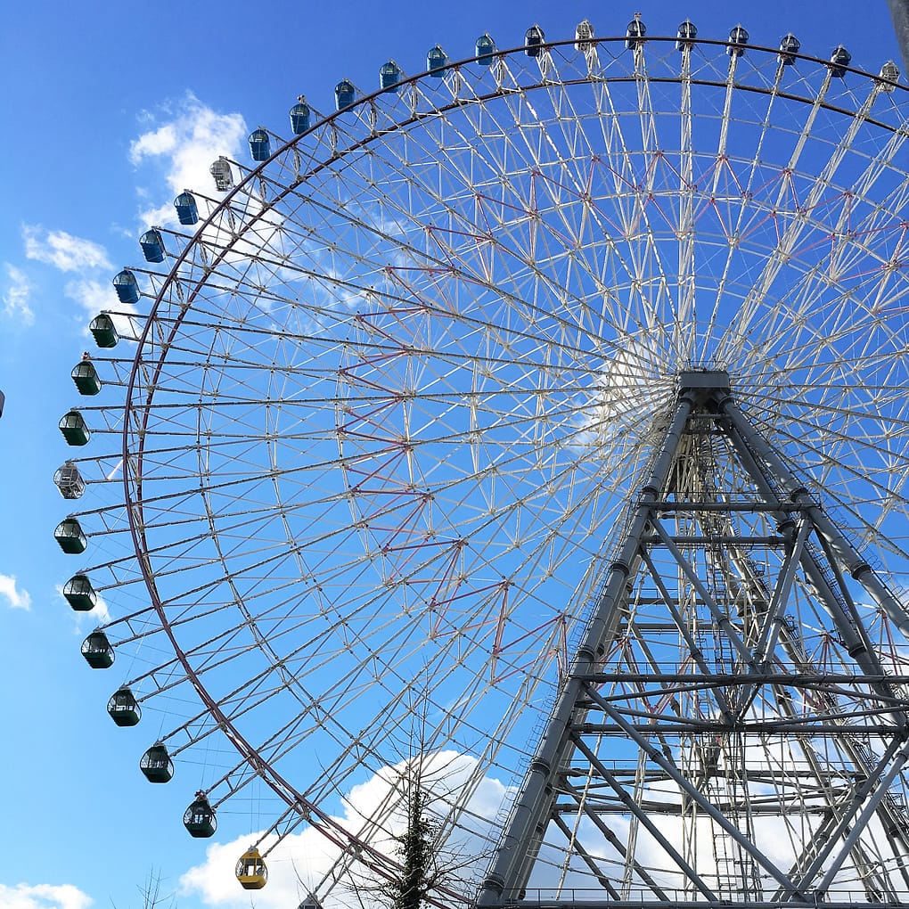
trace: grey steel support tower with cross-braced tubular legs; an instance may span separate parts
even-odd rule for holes
[[[909,675],[881,615],[909,631],[728,376],[680,375],[478,904],[903,902]]]

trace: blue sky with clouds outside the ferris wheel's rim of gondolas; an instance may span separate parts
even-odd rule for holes
[[[90,624],[57,594],[72,565],[52,539],[65,514],[51,482],[65,458],[56,422],[74,403],[69,370],[89,346],[85,326],[113,299],[115,272],[140,261],[136,238],[155,220],[149,213],[169,206],[185,182],[207,189],[212,158],[245,155],[256,125],[286,135],[296,95],[328,111],[342,77],[372,90],[388,57],[415,73],[435,43],[468,56],[484,31],[500,46],[520,44],[534,22],[548,38],[569,38],[586,16],[597,34],[620,34],[640,11],[653,35],[674,33],[687,16],[701,35],[722,38],[741,21],[757,44],[775,45],[793,31],[804,52],[827,56],[843,43],[854,65],[874,72],[899,59],[884,0],[738,7],[162,0],[98,2],[76,16],[72,5],[46,0],[5,15],[0,904],[124,909],[138,904],[149,874],[160,874],[162,893],[174,893],[184,909],[249,904],[233,881],[209,886],[207,868],[195,874],[205,884],[181,884],[190,868],[205,866],[211,844],[185,835],[185,792],[141,778],[145,738],[105,716],[111,682],[88,671],[78,653]],[[266,891],[256,904],[274,898]]]

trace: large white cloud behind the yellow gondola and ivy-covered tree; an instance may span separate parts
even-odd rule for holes
[[[451,797],[456,791],[464,787],[469,777],[475,773],[476,762],[474,758],[464,754],[446,752],[434,754],[428,762],[434,765],[433,769],[444,774],[444,792],[438,793],[440,797]],[[396,768],[385,768],[375,774],[364,784],[356,785],[345,798],[344,816],[337,818],[338,823],[346,829],[357,832],[364,824],[366,816],[375,814],[380,805],[386,803],[391,791],[392,780],[401,773],[404,766],[398,764]],[[441,777],[440,777],[441,778]],[[435,789],[435,786],[433,787]],[[473,824],[482,825],[482,818],[493,818],[502,804],[505,787],[490,777],[484,777],[475,788],[468,802],[468,813],[473,816]],[[400,826],[392,821],[393,826]],[[385,826],[387,825],[384,824]],[[190,868],[181,878],[180,884],[184,895],[193,895],[203,904],[217,906],[219,909],[241,909],[249,905],[249,894],[240,887],[235,879],[235,865],[237,860],[250,845],[261,836],[251,834],[239,837],[232,843],[213,844],[205,853],[205,862]],[[460,838],[459,842],[453,842]],[[385,836],[384,842],[372,834],[369,839],[376,848],[389,848],[389,841]],[[449,840],[446,852],[449,850],[460,859],[464,853],[476,851],[476,841],[471,849],[467,841],[470,834],[455,834]],[[265,863],[268,867],[268,883],[263,890],[255,894],[256,909],[285,909],[288,905],[297,905],[309,894],[310,889],[319,884],[325,874],[338,858],[338,850],[313,828],[307,828],[300,834],[290,834],[274,847],[274,838],[269,837],[259,845],[261,852],[265,853]],[[470,876],[471,872],[479,874],[484,870],[486,859],[480,860],[480,865],[475,868],[459,869],[461,876]],[[357,866],[346,879],[353,882],[358,889],[368,888],[370,874],[362,866]],[[341,909],[349,905],[350,894],[342,893],[335,888],[331,894],[319,894],[324,897],[325,909]]]

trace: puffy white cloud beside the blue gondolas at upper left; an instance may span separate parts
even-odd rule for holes
[[[169,119],[161,123],[162,116]],[[240,114],[219,114],[204,105],[195,95],[187,94],[175,106],[161,114],[145,117],[155,128],[140,135],[130,145],[130,161],[138,166],[157,162],[173,196],[185,189],[196,189],[206,195],[214,193],[208,168],[218,155],[236,158],[245,145],[248,130]],[[158,197],[147,189],[140,197]],[[171,200],[149,206],[142,213],[145,225],[173,223],[176,219]]]

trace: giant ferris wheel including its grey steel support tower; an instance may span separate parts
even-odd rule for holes
[[[312,828],[355,905],[416,777],[432,904],[906,902],[899,78],[483,35],[143,235],[55,536],[190,833],[265,788],[241,883]]]

